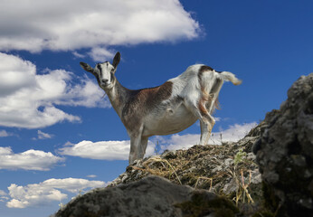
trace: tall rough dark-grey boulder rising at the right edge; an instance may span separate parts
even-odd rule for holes
[[[288,90],[280,110],[264,120],[253,146],[267,208],[277,216],[313,214],[313,73]]]

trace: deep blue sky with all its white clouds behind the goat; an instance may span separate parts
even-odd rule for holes
[[[33,1],[33,3],[32,3]],[[49,216],[128,165],[128,135],[79,65],[122,60],[129,89],[154,87],[194,63],[232,71],[211,143],[236,140],[279,109],[313,69],[312,1],[0,1],[0,213]],[[160,149],[199,140],[198,123],[151,137]],[[161,150],[160,150],[161,151]]]

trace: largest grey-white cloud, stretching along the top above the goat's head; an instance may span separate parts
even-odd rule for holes
[[[11,0],[1,4],[0,29],[0,51],[30,52],[175,42],[200,32],[178,0]]]

